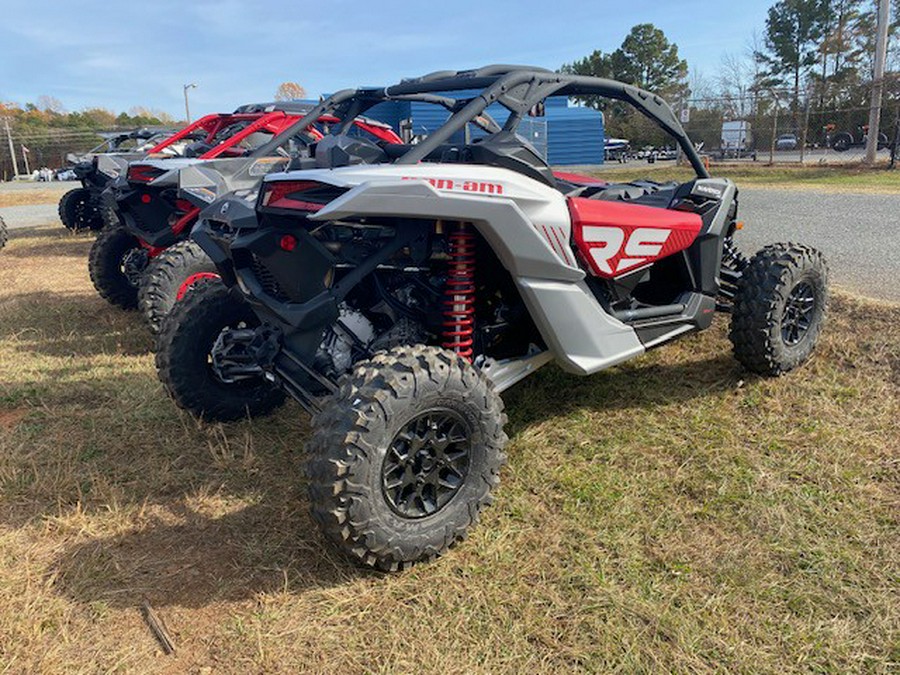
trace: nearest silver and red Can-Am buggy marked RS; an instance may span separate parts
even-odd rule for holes
[[[507,440],[500,394],[541,365],[596,373],[720,310],[737,359],[778,375],[810,356],[827,300],[814,249],[737,252],[737,189],[709,176],[659,97],[490,66],[372,91],[370,103],[431,92],[463,98],[418,145],[357,141],[330,168],[267,175],[255,208],[241,195],[206,208],[193,237],[222,280],[187,292],[157,349],[166,389],[194,414],[259,414],[282,392],[307,409],[315,520],[350,557],[390,570],[446,551],[491,502]],[[632,105],[696,178],[557,180],[516,135],[548,96]],[[365,95],[356,101],[364,113]],[[502,129],[454,142],[495,102],[509,110]],[[368,165],[340,166],[363,154]]]

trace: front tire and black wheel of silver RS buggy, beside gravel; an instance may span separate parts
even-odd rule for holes
[[[750,259],[738,282],[729,338],[748,370],[781,375],[806,361],[828,304],[828,266],[814,248],[773,244]]]

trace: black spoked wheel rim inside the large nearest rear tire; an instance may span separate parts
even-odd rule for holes
[[[382,464],[382,492],[404,518],[444,508],[469,472],[471,442],[462,417],[451,410],[421,413],[397,432]]]

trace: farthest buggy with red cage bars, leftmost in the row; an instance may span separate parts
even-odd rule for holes
[[[89,153],[75,164],[75,175],[82,187],[70,190],[59,201],[59,217],[70,230],[100,230],[116,216],[108,206],[104,208],[101,194],[119,176],[125,173],[128,163],[144,157],[156,159],[172,157],[229,156],[241,154],[241,143],[252,138],[255,131],[276,132],[286,123],[287,114],[302,114],[311,106],[302,103],[251,103],[232,113],[205,115],[180,131],[172,134],[155,134],[147,143],[123,150],[118,143],[114,151]],[[247,130],[248,126],[255,126]],[[133,134],[141,139],[146,130]],[[129,137],[132,135],[129,135]],[[237,138],[235,138],[237,137]]]

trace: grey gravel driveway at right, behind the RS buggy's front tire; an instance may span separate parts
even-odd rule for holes
[[[832,282],[873,298],[900,301],[900,195],[744,188],[745,252],[773,241],[811,244],[825,253]]]

